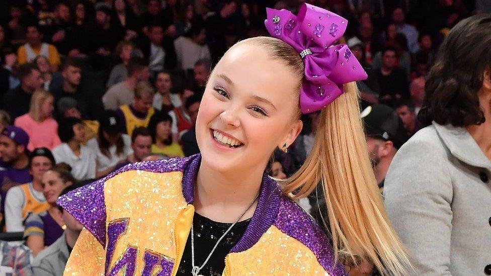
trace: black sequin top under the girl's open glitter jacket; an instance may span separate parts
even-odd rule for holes
[[[199,274],[203,276],[221,276],[225,268],[225,256],[230,252],[232,247],[240,240],[246,232],[249,220],[237,222],[220,241],[205,267],[200,270]],[[215,246],[218,239],[227,231],[231,223],[215,222],[194,213],[194,261],[195,265],[201,266],[205,259]],[[191,264],[191,234],[186,241],[183,257],[177,271],[178,276],[190,276],[192,270]]]

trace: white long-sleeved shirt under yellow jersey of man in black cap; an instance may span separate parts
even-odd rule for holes
[[[29,182],[29,192],[34,198],[43,203],[46,202],[43,192],[34,190],[32,182]],[[24,195],[24,190],[20,186],[12,187],[7,192],[7,197],[5,198],[5,226],[7,227],[7,232],[21,232],[24,231],[24,225],[22,221],[22,209],[26,204],[26,197]]]

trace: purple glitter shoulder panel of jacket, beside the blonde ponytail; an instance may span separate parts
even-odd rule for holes
[[[281,198],[275,226],[307,246],[330,275],[348,275],[341,262],[334,263],[334,252],[328,237],[301,207],[285,196]]]

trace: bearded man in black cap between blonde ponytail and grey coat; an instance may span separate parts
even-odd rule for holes
[[[402,121],[397,113],[384,105],[367,107],[361,113],[365,124],[368,154],[377,179],[383,191],[385,174],[397,149],[407,141]]]

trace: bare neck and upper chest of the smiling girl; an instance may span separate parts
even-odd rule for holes
[[[261,188],[264,169],[218,172],[201,162],[194,190],[198,214],[217,222],[234,222],[254,201]],[[251,218],[258,201],[241,218]]]

